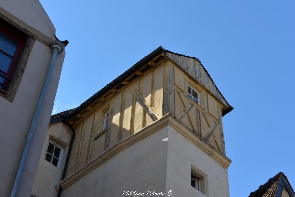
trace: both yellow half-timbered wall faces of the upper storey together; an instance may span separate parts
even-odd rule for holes
[[[166,64],[171,64],[166,62]],[[138,95],[150,106],[159,118],[163,115],[164,99],[164,66],[161,64],[150,69],[143,76],[120,89],[110,96],[101,107],[80,121],[76,128],[76,138],[70,157],[70,165],[67,174],[80,169],[87,162],[99,156],[104,150],[113,146],[128,136],[140,131],[143,127],[153,123],[142,103],[138,101]],[[205,137],[214,124],[218,124],[208,142],[217,150],[223,150],[222,117],[218,113],[222,104],[208,94],[208,91],[200,84],[195,83],[189,76],[177,66],[174,71],[174,116],[186,125],[192,132]],[[196,88],[200,93],[200,104],[188,98],[188,84]],[[192,107],[184,113],[189,105]],[[109,107],[106,107],[109,106]],[[109,110],[109,126],[102,130],[104,113]],[[219,110],[219,111],[218,111]],[[180,117],[180,114],[184,113]],[[172,114],[173,115],[173,114]],[[218,119],[218,117],[221,119]]]

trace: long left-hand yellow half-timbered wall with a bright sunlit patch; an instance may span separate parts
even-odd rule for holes
[[[157,113],[162,117],[163,110],[163,65],[158,66],[122,90],[111,96],[105,104],[95,109],[76,125],[74,140],[67,175],[80,169],[93,158],[99,156],[106,148],[113,146],[143,127],[153,123],[152,118],[144,110],[130,88],[139,90],[140,94]],[[109,106],[109,107],[106,107]],[[109,110],[109,131],[102,131],[105,112]],[[102,133],[101,133],[102,132]],[[108,136],[109,135],[109,142]],[[109,143],[107,145],[107,143]]]

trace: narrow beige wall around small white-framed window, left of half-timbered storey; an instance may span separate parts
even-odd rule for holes
[[[38,197],[56,197],[71,141],[71,135],[68,126],[62,122],[49,125],[39,160],[32,194]],[[57,167],[45,160],[49,141],[54,142],[61,148],[61,161]]]

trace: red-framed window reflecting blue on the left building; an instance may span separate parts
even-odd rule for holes
[[[19,29],[0,20],[0,91],[6,92],[27,40]]]

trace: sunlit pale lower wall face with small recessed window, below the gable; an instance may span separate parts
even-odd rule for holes
[[[206,195],[191,187],[191,166],[206,174]],[[173,197],[229,197],[227,169],[173,127],[168,130],[166,181]]]

